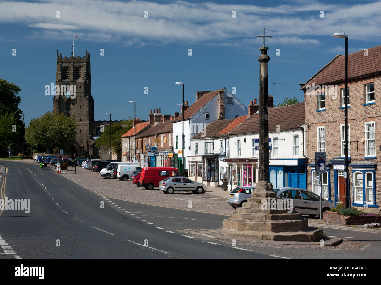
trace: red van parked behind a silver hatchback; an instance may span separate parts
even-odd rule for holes
[[[152,190],[158,187],[160,181],[167,177],[181,176],[180,171],[174,167],[143,167],[139,185],[146,187],[147,190]]]

